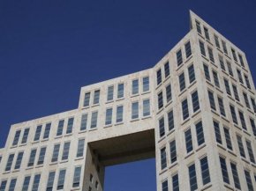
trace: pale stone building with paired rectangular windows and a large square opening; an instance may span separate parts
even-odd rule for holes
[[[101,191],[105,166],[146,158],[158,191],[256,190],[245,53],[192,11],[190,29],[153,68],[82,87],[77,109],[12,125],[0,191]]]

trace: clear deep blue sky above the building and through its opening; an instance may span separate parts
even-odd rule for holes
[[[153,67],[189,9],[245,51],[255,81],[255,0],[1,1],[0,147],[11,124],[77,108],[81,86]],[[108,168],[105,190],[154,191],[154,173],[154,160]]]

